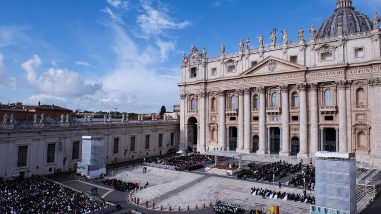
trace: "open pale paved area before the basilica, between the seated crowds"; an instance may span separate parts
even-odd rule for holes
[[[242,205],[244,208],[263,207],[269,209],[270,205],[281,205],[284,213],[307,213],[310,204],[283,201],[280,199],[262,199],[261,196],[252,196],[249,191],[251,187],[268,188],[278,191],[277,185],[252,182],[252,180],[238,180],[236,176],[216,175],[199,171],[174,171],[168,169],[147,167],[147,173],[142,173],[141,166],[125,171],[117,172],[108,178],[115,178],[127,182],[139,182],[144,185],[149,182],[149,187],[138,191],[134,196],[140,198],[140,206],[144,201],[155,202],[155,207],[163,206],[172,209],[181,206],[181,210],[189,205],[192,209],[197,204],[201,207],[203,203],[221,200],[232,204]],[[302,194],[302,189],[283,187],[281,192]],[[307,192],[313,195],[313,192]]]

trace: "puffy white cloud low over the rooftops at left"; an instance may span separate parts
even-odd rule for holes
[[[49,68],[37,82],[43,93],[63,97],[94,94],[102,88],[102,83],[85,84],[83,77],[68,68]]]

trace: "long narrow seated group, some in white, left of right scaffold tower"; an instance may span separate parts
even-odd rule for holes
[[[281,193],[280,191],[276,192],[275,190],[268,190],[268,189],[260,189],[260,188],[251,188],[250,194],[252,195],[259,195],[262,196],[262,198],[266,199],[268,198],[274,198],[274,199],[283,199],[288,201],[296,201],[296,202],[304,202],[304,203],[310,203],[315,204],[315,197],[314,196],[307,196],[305,191],[303,195],[295,194],[295,193]]]

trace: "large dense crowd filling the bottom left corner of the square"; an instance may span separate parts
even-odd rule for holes
[[[0,184],[0,213],[89,213],[110,204],[41,177]]]

